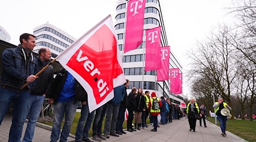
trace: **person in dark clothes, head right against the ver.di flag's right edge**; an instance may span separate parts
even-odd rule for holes
[[[123,96],[123,101],[119,107],[118,117],[117,117],[117,126],[115,128],[115,133],[118,135],[122,135],[122,133],[126,133],[123,131],[123,120],[125,120],[125,110],[128,106],[128,95],[127,95],[127,88],[129,86],[130,81],[126,79],[125,86],[125,95]]]

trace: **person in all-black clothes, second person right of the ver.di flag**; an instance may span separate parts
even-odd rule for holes
[[[131,93],[129,93],[128,95],[128,119],[127,119],[127,131],[129,132],[133,132],[136,131],[133,129],[133,111],[135,110],[136,107],[136,91],[137,88],[136,87],[132,87],[131,88]]]

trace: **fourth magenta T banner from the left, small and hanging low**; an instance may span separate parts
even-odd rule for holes
[[[179,68],[175,68],[175,69],[170,69],[170,93],[174,93],[177,94],[177,92],[179,91],[179,73],[180,73],[180,69]]]

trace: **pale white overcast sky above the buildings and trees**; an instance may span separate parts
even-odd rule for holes
[[[117,0],[0,0],[0,4],[0,26],[9,32],[10,43],[18,45],[19,35],[32,34],[35,27],[46,22],[78,39],[108,14],[114,22]],[[233,6],[232,0],[160,0],[160,4],[171,52],[183,66],[183,92],[189,95],[186,52],[218,24],[232,23],[225,9]]]

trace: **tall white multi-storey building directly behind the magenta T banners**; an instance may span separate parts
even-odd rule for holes
[[[171,101],[174,99],[174,103],[180,104],[180,102],[183,102],[183,95],[170,94],[170,81],[159,81],[155,83],[156,73],[154,70],[143,72],[143,48],[145,36],[143,37],[143,43],[139,45],[137,49],[123,54],[123,44],[125,41],[126,7],[127,1],[119,0],[117,2],[115,30],[118,37],[118,46],[121,51],[121,55],[123,55],[123,68],[125,76],[130,80],[129,89],[131,89],[133,86],[137,88],[142,88],[143,86],[143,91],[148,90],[150,93],[152,93],[152,91],[156,90],[156,95],[158,97],[164,96],[166,98],[170,98]],[[158,26],[162,26],[162,47],[168,46],[169,44],[167,40],[166,27],[164,25],[160,2],[159,0],[147,0],[144,10],[144,30]],[[182,73],[182,66],[180,65],[179,61],[177,61],[172,52],[170,54],[170,68],[179,68],[180,72]]]

